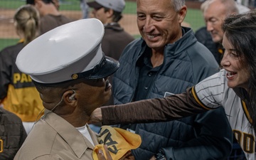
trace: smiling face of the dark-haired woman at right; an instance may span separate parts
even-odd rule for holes
[[[225,34],[223,36],[223,47],[225,48],[225,53],[220,64],[227,71],[228,87],[243,87],[247,90],[250,78],[248,70],[245,65],[242,65],[242,57],[238,56],[238,53],[230,44]]]

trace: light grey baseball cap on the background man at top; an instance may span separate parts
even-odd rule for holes
[[[102,6],[113,9],[114,11],[122,12],[124,10],[124,0],[95,0],[87,2],[88,6],[94,9],[100,9]]]

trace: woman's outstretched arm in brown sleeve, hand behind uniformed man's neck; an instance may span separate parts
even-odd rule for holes
[[[102,124],[163,122],[206,112],[206,108],[196,102],[191,90],[192,87],[181,94],[161,99],[101,107],[92,112],[90,122],[102,121]]]

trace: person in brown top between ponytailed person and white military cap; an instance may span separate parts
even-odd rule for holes
[[[40,34],[46,33],[51,29],[73,21],[72,19],[60,14],[55,0],[26,0],[26,4],[32,4],[40,13]]]

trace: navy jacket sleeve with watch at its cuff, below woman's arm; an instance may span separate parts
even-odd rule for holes
[[[223,113],[218,114],[218,112]],[[183,143],[182,146],[163,148],[166,159],[178,160],[188,157],[190,160],[223,159],[230,155],[233,133],[223,107],[219,107],[215,112],[210,110],[206,114],[198,114],[194,123],[194,132],[198,137]]]

